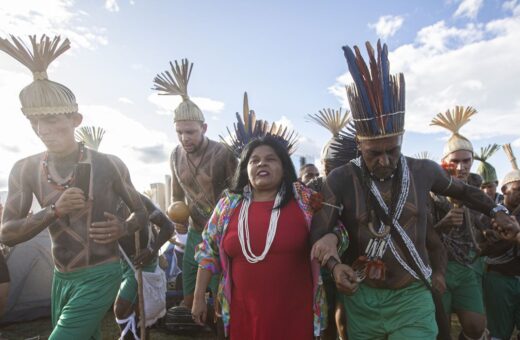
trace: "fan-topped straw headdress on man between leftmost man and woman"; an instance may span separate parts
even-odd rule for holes
[[[152,89],[159,91],[160,95],[182,97],[182,102],[174,110],[174,122],[204,122],[204,114],[201,109],[188,96],[188,82],[190,81],[193,63],[190,63],[188,59],[182,59],[180,65],[177,60],[175,60],[175,64],[170,61],[170,68],[171,72],[164,71],[155,76]]]

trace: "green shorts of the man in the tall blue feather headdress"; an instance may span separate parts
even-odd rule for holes
[[[414,282],[402,289],[372,288],[361,283],[345,296],[349,339],[436,339],[437,323],[431,292]]]

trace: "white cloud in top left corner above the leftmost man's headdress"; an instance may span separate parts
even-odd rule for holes
[[[86,13],[75,10],[72,0],[0,2],[0,35],[26,36],[39,32],[62,35],[75,46],[93,49],[106,45],[105,30],[87,27]]]

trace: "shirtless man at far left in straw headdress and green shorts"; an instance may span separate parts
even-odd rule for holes
[[[121,282],[117,241],[145,225],[148,214],[123,162],[86,149],[74,139],[74,129],[82,120],[75,96],[64,85],[50,81],[46,73],[48,65],[69,49],[69,41],[60,43],[60,37],[46,36],[38,41],[31,36],[30,51],[12,39],[14,44],[0,39],[0,49],[34,75],[34,81],[21,91],[20,101],[47,150],[14,165],[0,240],[13,246],[48,228],[56,266],[54,329],[49,339],[100,339],[99,325]],[[90,176],[79,178],[74,171],[79,163],[90,165]],[[86,182],[82,185],[86,191],[74,187],[80,179]],[[33,195],[43,209],[30,213]],[[125,221],[111,209],[120,199],[132,211]]]

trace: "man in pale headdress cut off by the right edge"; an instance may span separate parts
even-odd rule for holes
[[[504,145],[504,150],[513,166],[502,180],[504,204],[520,221],[520,170],[511,145]],[[486,254],[482,286],[489,332],[493,339],[510,339],[515,326],[520,329],[520,244],[493,242]]]

